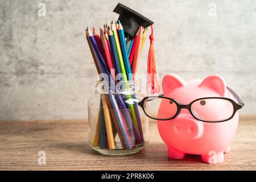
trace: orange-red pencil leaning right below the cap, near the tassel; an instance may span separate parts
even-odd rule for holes
[[[131,65],[131,72],[133,74],[137,73],[137,69],[138,69],[139,55],[141,52],[141,44],[142,44],[142,34],[143,34],[142,27],[140,27],[138,36],[137,36],[136,45],[135,45],[134,61],[133,61],[133,64]]]

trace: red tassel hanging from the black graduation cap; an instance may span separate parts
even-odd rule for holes
[[[155,67],[155,50],[154,50],[154,36],[153,36],[153,26],[151,25],[151,35],[150,38],[150,49],[148,51],[147,57],[147,93],[148,94],[158,94],[159,82],[156,75]]]

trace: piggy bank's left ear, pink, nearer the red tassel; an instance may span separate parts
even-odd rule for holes
[[[179,86],[184,86],[186,84],[187,82],[185,82],[181,77],[177,75],[174,75],[174,74],[166,75],[164,76],[162,81],[163,92],[168,93],[172,89],[175,89]]]

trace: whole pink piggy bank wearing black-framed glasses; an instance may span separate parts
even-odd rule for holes
[[[185,154],[196,154],[205,163],[224,162],[224,153],[230,151],[236,134],[237,110],[243,106],[235,102],[237,94],[230,92],[224,78],[212,75],[203,81],[184,81],[177,75],[166,75],[162,86],[163,97],[173,100],[163,100],[158,110],[159,118],[174,117],[158,120],[168,157],[183,159]]]

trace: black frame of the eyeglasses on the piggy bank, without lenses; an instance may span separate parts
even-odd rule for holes
[[[170,98],[170,97],[164,97],[163,94],[160,95],[160,96],[148,96],[148,97],[144,97],[140,102],[138,102],[138,105],[142,107],[144,113],[147,115],[147,117],[151,118],[151,119],[155,119],[155,120],[159,120],[159,121],[167,121],[167,120],[170,120],[170,119],[174,119],[175,117],[177,117],[177,115],[180,114],[180,111],[181,109],[187,109],[189,111],[189,113],[192,115],[193,118],[199,120],[199,121],[202,121],[202,122],[208,122],[208,123],[218,123],[218,122],[225,122],[225,121],[228,121],[230,119],[232,119],[234,117],[234,115],[236,114],[237,110],[241,109],[245,104],[244,102],[241,100],[241,98],[238,96],[238,94],[236,92],[234,92],[234,90],[230,89],[228,86],[226,87],[229,92],[236,98],[236,100],[238,102],[235,102],[234,100],[232,100],[231,98],[226,98],[226,97],[203,97],[203,98],[197,98],[196,100],[193,100],[192,102],[190,102],[189,104],[187,105],[183,105],[183,104],[180,104],[178,101],[174,100],[173,98]],[[144,109],[144,104],[145,104],[145,101],[148,99],[148,98],[166,98],[168,100],[171,100],[172,102],[174,102],[177,106],[177,112],[176,114],[173,116],[173,117],[170,117],[170,118],[166,118],[166,119],[159,119],[159,118],[154,118],[154,117],[150,117],[150,115],[148,115]],[[224,119],[224,120],[221,120],[221,121],[205,121],[205,120],[202,120],[202,119],[199,119],[197,118],[193,112],[192,112],[192,109],[191,109],[191,106],[194,102],[196,101],[199,101],[199,100],[204,100],[204,99],[209,99],[209,98],[218,98],[218,99],[222,99],[222,100],[227,100],[227,101],[230,101],[233,105],[233,108],[234,108],[234,111],[233,111],[233,114],[231,117],[229,117],[228,119]]]

